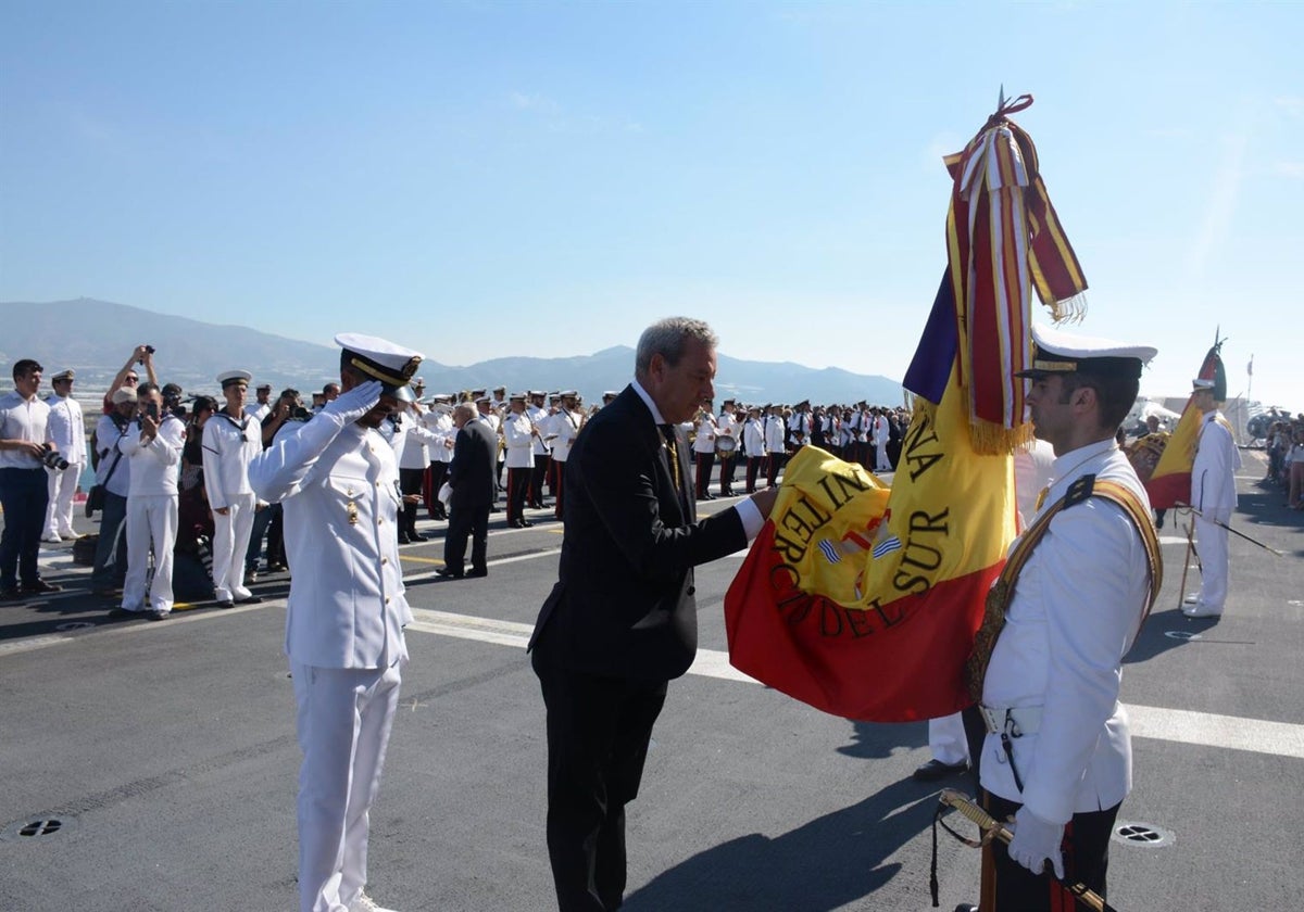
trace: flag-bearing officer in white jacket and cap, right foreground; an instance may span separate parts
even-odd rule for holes
[[[1009,847],[996,840],[985,851],[982,908],[995,912],[1073,908],[1051,869],[1104,896],[1114,821],[1132,790],[1123,657],[1162,578],[1150,502],[1114,442],[1155,349],[1042,327],[1033,340],[1033,367],[1020,377],[1031,380],[1037,436],[1055,449],[1052,481],[1011,546],[1011,567],[1031,551],[1004,627],[988,627],[988,605],[975,646],[982,654],[983,633],[996,631],[986,674],[981,661],[970,667],[988,731],[983,803],[996,819],[1015,816]],[[1107,499],[1102,482],[1132,508]]]

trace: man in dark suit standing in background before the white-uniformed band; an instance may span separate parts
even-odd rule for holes
[[[452,410],[452,423],[458,427],[458,436],[452,444],[452,463],[449,465],[451,515],[443,538],[443,569],[439,576],[489,576],[489,508],[498,498],[498,482],[494,478],[498,439],[471,403],[462,403]],[[471,572],[464,573],[468,533]]]

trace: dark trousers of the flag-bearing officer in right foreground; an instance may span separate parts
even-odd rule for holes
[[[982,792],[982,806],[999,821],[1018,810],[1017,801]],[[1085,883],[1104,894],[1110,869],[1110,836],[1119,816],[1116,804],[1106,810],[1073,814],[1064,827],[1064,882]],[[983,849],[983,912],[1058,912],[1076,909],[1073,895],[1051,874],[1034,874],[1009,857],[1005,843],[994,839]]]

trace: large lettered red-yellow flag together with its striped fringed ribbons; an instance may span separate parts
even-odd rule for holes
[[[725,595],[733,664],[836,715],[909,722],[970,705],[965,659],[1017,532],[1012,448],[1035,291],[1081,315],[1086,280],[1001,100],[945,164],[948,266],[904,386],[915,393],[888,490],[803,447]]]

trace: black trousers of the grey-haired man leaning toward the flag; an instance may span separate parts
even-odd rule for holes
[[[532,654],[548,709],[548,857],[561,912],[625,896],[625,805],[639,793],[666,681],[557,668]]]

